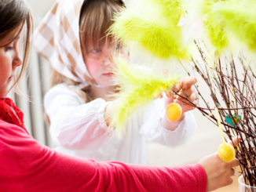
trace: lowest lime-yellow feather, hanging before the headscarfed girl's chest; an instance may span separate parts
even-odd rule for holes
[[[116,60],[116,81],[120,90],[115,93],[115,107],[112,112],[112,126],[122,129],[127,118],[139,107],[144,107],[162,92],[170,91],[179,77],[163,77],[142,72],[122,58]]]

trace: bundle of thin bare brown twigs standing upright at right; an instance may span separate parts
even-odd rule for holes
[[[245,183],[256,186],[255,71],[242,53],[237,57],[218,56],[210,60],[206,46],[202,42],[195,43],[199,56],[192,58],[193,71],[196,72],[193,75],[201,77],[209,89],[204,94],[205,85],[196,88],[199,106],[195,107],[215,125],[218,122],[214,110],[218,108],[225,136],[229,139],[241,137],[236,158],[240,161]]]

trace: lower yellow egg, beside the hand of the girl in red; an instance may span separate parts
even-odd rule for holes
[[[225,162],[230,162],[236,157],[236,151],[229,143],[222,143],[218,147],[218,156]]]

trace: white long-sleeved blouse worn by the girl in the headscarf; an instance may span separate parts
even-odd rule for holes
[[[107,103],[100,98],[85,103],[70,85],[60,84],[50,89],[44,105],[56,150],[97,161],[146,164],[146,140],[175,147],[196,130],[196,121],[190,111],[185,113],[177,129],[165,129],[161,124],[166,115],[163,100],[157,99],[130,116],[126,134],[120,137],[116,129],[105,124]]]

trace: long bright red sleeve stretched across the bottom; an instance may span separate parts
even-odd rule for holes
[[[167,168],[71,158],[0,121],[1,191],[205,192],[200,165]]]

